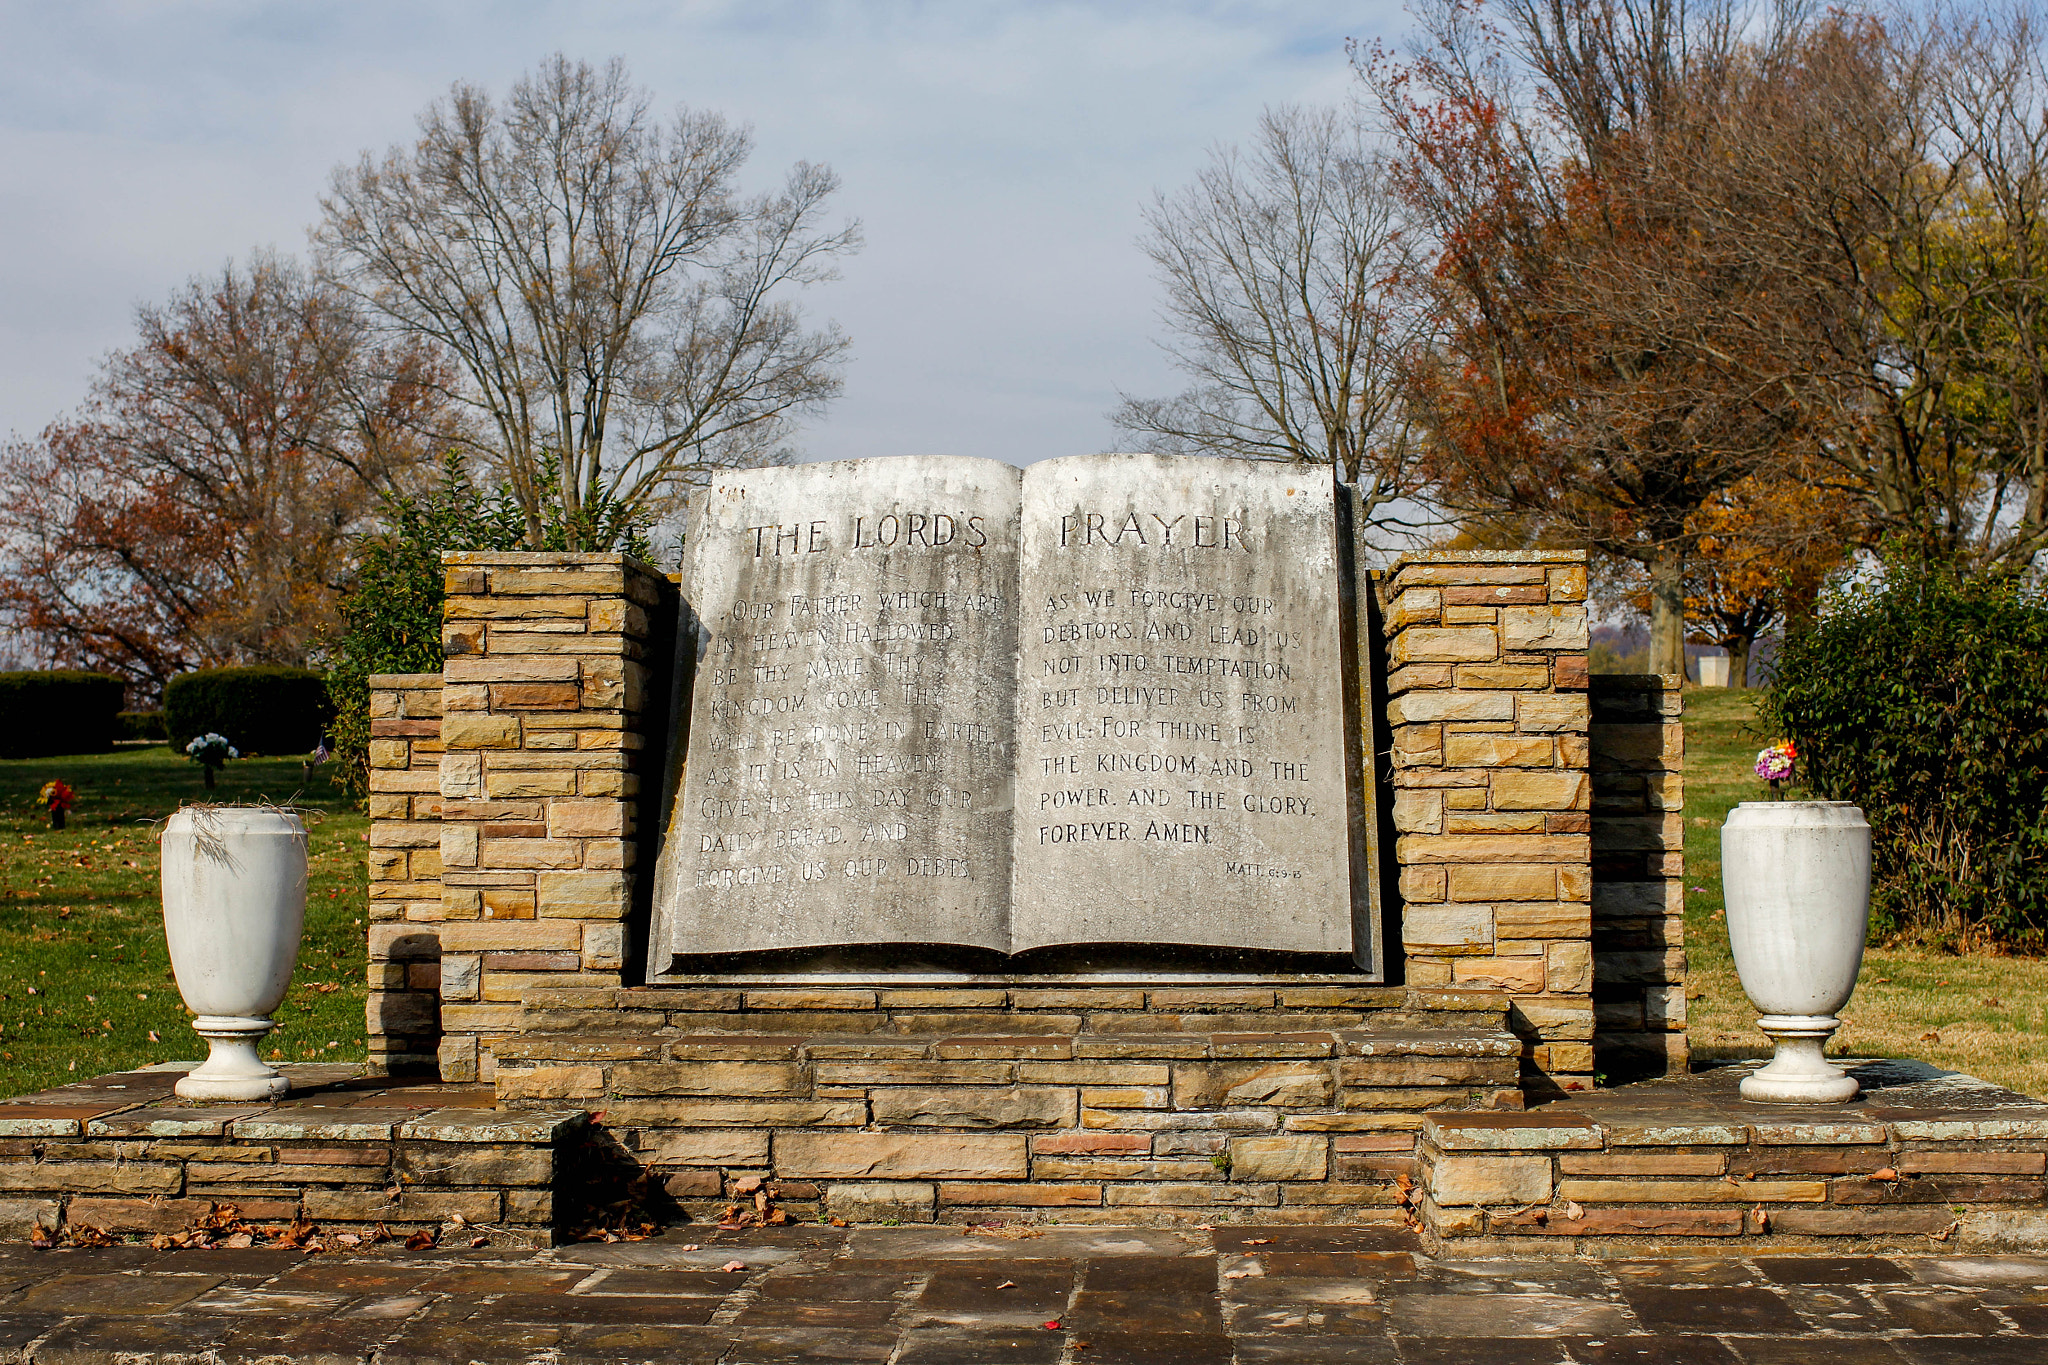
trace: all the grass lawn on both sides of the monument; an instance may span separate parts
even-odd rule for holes
[[[1729,956],[1720,823],[1735,802],[1767,796],[1749,765],[1769,739],[1755,729],[1753,692],[1686,694],[1696,1056],[1765,1054]],[[35,806],[51,778],[78,790],[63,831]],[[205,1054],[164,950],[152,823],[188,800],[287,800],[299,788],[295,759],[246,759],[209,794],[199,767],[166,747],[0,761],[0,1095]],[[272,1046],[287,1060],[360,1060],[369,821],[317,774],[297,800],[326,814],[309,823],[305,941]],[[1839,1054],[1923,1058],[2048,1097],[2044,958],[1872,948],[1843,1019]]]

